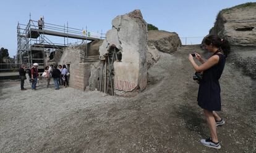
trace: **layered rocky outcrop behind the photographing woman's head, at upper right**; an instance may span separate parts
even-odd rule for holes
[[[210,34],[228,39],[231,45],[256,46],[256,2],[221,10]]]

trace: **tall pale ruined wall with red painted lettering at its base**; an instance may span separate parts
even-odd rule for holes
[[[112,25],[100,46],[100,56],[104,59],[109,45],[116,45],[122,59],[114,62],[114,93],[135,95],[147,86],[147,23],[140,10],[134,10],[114,18]]]

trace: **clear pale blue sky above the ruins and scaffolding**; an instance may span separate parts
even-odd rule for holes
[[[0,1],[0,47],[9,50],[10,57],[17,53],[17,23],[27,24],[30,19],[45,17],[46,23],[106,33],[111,29],[111,21],[117,15],[123,15],[140,9],[144,20],[158,29],[176,32],[179,37],[204,37],[214,25],[216,15],[222,9],[245,2],[243,0],[97,0],[97,1],[61,1],[61,0],[25,0]],[[54,38],[53,38],[54,39]],[[181,39],[184,44],[185,39]],[[197,40],[187,39],[187,44],[198,44]]]

